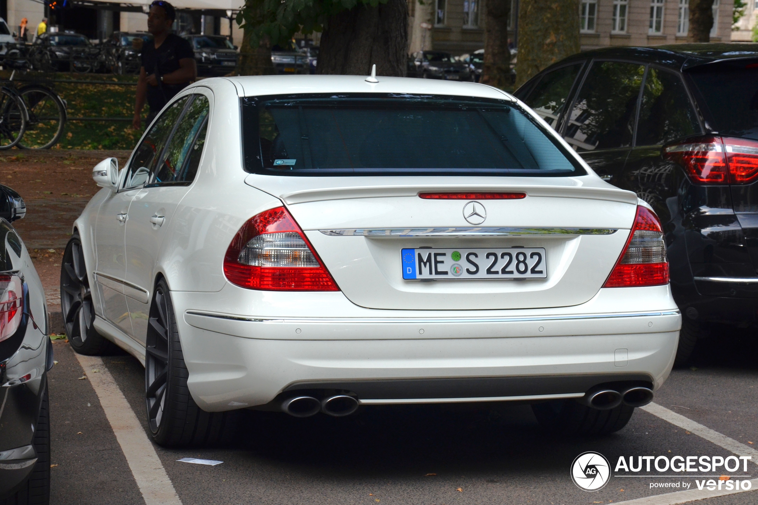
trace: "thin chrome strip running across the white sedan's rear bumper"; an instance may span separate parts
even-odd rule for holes
[[[678,316],[679,310],[665,310],[662,312],[633,312],[633,313],[616,313],[616,314],[587,314],[581,316],[532,316],[532,317],[450,317],[439,319],[404,319],[404,318],[372,318],[372,317],[338,317],[338,318],[265,318],[265,317],[246,317],[233,316],[230,314],[201,312],[199,310],[187,310],[187,314],[192,316],[215,317],[224,320],[244,321],[247,323],[330,323],[330,324],[368,324],[368,323],[412,323],[412,324],[430,324],[430,323],[524,323],[537,321],[569,321],[569,320],[594,320],[594,319],[618,319],[622,317],[656,317],[656,316]]]

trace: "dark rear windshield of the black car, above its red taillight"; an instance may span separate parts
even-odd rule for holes
[[[722,135],[758,139],[758,62],[728,61],[688,71],[708,125]]]

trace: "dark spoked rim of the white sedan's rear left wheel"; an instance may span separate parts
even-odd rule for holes
[[[153,433],[161,427],[168,386],[168,303],[163,288],[158,285],[150,307],[145,349],[145,399],[148,424]]]

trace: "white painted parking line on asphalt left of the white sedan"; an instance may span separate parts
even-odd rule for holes
[[[146,505],[182,505],[143,426],[99,357],[76,354],[127,458]],[[92,370],[98,370],[93,372]]]

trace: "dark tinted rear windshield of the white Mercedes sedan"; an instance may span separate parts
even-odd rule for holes
[[[242,98],[246,170],[292,176],[576,176],[506,100],[417,95]]]

